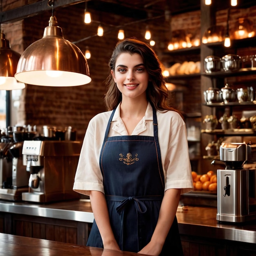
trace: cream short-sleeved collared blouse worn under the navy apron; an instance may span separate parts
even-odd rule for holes
[[[91,119],[85,133],[74,179],[74,191],[89,195],[96,190],[104,193],[99,158],[105,131],[112,111],[103,112]],[[193,190],[191,164],[186,135],[186,124],[175,111],[157,111],[158,139],[167,189]],[[128,135],[120,117],[120,104],[113,116],[108,137]],[[153,110],[150,103],[145,116],[132,135],[154,136]]]

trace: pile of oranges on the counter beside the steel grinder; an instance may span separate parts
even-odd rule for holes
[[[206,174],[197,174],[192,171],[194,190],[197,191],[217,191],[217,175],[213,171]]]

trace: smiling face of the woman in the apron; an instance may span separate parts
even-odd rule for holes
[[[115,71],[111,70],[111,74],[122,94],[122,100],[126,97],[146,99],[149,75],[139,54],[121,53],[117,57]]]

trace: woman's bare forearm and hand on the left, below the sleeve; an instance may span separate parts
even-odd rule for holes
[[[119,250],[108,215],[105,195],[100,191],[90,191],[90,201],[95,222],[99,228],[104,249]]]

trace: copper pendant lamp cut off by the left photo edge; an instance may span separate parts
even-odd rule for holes
[[[9,40],[1,32],[0,39],[0,90],[18,90],[25,88],[24,83],[14,78],[20,58],[18,52],[11,50]]]

